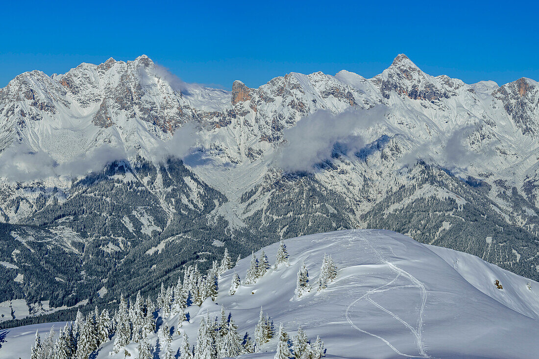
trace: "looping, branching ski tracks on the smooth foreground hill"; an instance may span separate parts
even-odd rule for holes
[[[352,237],[349,237],[349,239],[353,239]],[[350,305],[346,308],[346,313],[345,313],[345,316],[346,316],[346,320],[348,321],[348,323],[350,323],[350,325],[359,330],[360,332],[362,333],[365,333],[365,334],[368,334],[368,335],[371,335],[371,336],[374,336],[380,340],[382,340],[384,343],[386,343],[393,351],[395,351],[395,353],[397,353],[398,355],[402,355],[402,356],[405,356],[405,357],[410,357],[410,358],[432,358],[430,355],[428,355],[425,351],[425,348],[424,348],[424,343],[423,343],[423,339],[421,337],[421,330],[423,328],[423,312],[424,312],[424,309],[425,309],[425,303],[427,301],[427,292],[426,292],[426,289],[425,289],[425,286],[423,285],[423,283],[419,280],[417,280],[415,277],[413,277],[413,275],[411,275],[410,273],[404,271],[403,269],[397,267],[396,265],[392,264],[390,261],[386,260],[382,254],[374,247],[372,246],[369,241],[367,240],[364,240],[364,242],[370,247],[370,249],[376,254],[376,257],[378,257],[378,259],[380,261],[382,261],[382,263],[388,265],[392,271],[396,272],[397,275],[395,278],[393,278],[391,281],[387,282],[386,284],[382,285],[382,286],[379,286],[378,288],[375,288],[375,289],[371,289],[370,291],[368,291],[367,293],[365,293],[364,295],[362,295],[360,298],[356,299],[355,301],[351,302]],[[393,252],[393,250],[390,248],[391,252],[393,254],[395,254]],[[390,287],[390,288],[384,288],[384,287],[387,287],[387,286],[390,286],[391,284],[393,284],[393,282],[395,282],[399,277],[404,277],[408,280],[410,280],[414,285],[407,285],[407,286],[396,286],[396,287]],[[395,313],[391,312],[390,310],[382,307],[381,305],[379,305],[377,302],[375,302],[374,300],[372,300],[369,295],[370,294],[373,294],[373,293],[381,293],[381,292],[386,292],[386,291],[389,291],[390,289],[398,289],[398,288],[405,288],[405,287],[415,287],[415,288],[420,288],[421,289],[421,306],[420,306],[420,309],[419,309],[419,320],[418,320],[418,325],[417,325],[417,329],[412,327],[409,323],[405,322],[403,319],[401,319],[398,315],[396,315]],[[349,315],[349,312],[350,312],[350,308],[352,306],[355,305],[355,303],[357,303],[358,301],[360,300],[368,300],[369,302],[371,302],[372,304],[374,304],[376,307],[378,307],[379,309],[383,310],[384,312],[388,313],[389,315],[391,315],[392,317],[394,317],[396,320],[398,320],[400,323],[402,323],[404,326],[406,326],[407,328],[410,329],[410,332],[416,337],[416,344],[417,344],[417,350],[419,352],[419,356],[417,355],[408,355],[408,354],[404,354],[404,353],[401,353],[397,348],[395,348],[394,346],[392,346],[392,344],[384,339],[383,337],[379,336],[379,335],[376,335],[376,334],[373,334],[373,333],[369,333],[367,332],[366,330],[363,330],[363,329],[360,329],[358,328],[354,322],[350,319],[350,315]]]

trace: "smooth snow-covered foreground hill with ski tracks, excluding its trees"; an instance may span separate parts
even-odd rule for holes
[[[288,239],[288,266],[270,270],[255,285],[229,287],[234,271],[243,280],[250,258],[225,272],[215,302],[190,306],[186,332],[195,343],[198,323],[206,313],[218,316],[224,305],[239,327],[253,335],[260,307],[278,327],[293,334],[301,325],[313,340],[320,335],[328,358],[534,358],[539,350],[539,283],[486,263],[470,254],[417,243],[409,237],[382,230],[350,230]],[[264,248],[271,263],[278,244]],[[336,279],[323,292],[316,279],[324,253],[338,266]],[[258,253],[260,254],[260,253]],[[258,257],[258,256],[257,256]],[[313,290],[295,297],[296,273],[302,261]],[[497,289],[499,280],[503,289]],[[175,317],[167,319],[176,327]],[[160,323],[160,320],[158,320]],[[28,358],[38,328],[9,329],[0,357]],[[64,323],[56,323],[59,329]],[[0,336],[1,337],[1,336]],[[152,338],[155,345],[156,336]],[[173,345],[182,337],[175,331]],[[128,351],[137,357],[136,344]],[[272,358],[274,338],[256,358]],[[96,358],[109,355],[112,342]],[[247,356],[246,356],[247,357]]]

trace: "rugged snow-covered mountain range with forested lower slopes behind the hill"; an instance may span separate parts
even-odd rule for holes
[[[146,56],[23,73],[0,89],[0,260],[17,267],[0,270],[19,278],[0,302],[71,307],[223,242],[246,255],[358,227],[539,279],[538,138],[536,81],[469,85],[403,54],[371,79],[290,73],[232,91]]]

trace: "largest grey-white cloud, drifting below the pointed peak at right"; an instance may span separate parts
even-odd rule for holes
[[[348,108],[338,114],[319,110],[306,116],[285,130],[287,143],[275,164],[288,172],[310,172],[316,163],[330,158],[335,143],[347,152],[357,151],[365,144],[365,130],[384,122],[386,111],[379,105],[368,110]]]

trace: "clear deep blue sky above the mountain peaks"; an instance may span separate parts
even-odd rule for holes
[[[19,4],[16,4],[19,3]],[[398,53],[465,82],[539,80],[536,2],[3,2],[0,87],[17,74],[147,54],[187,82],[372,77]]]

